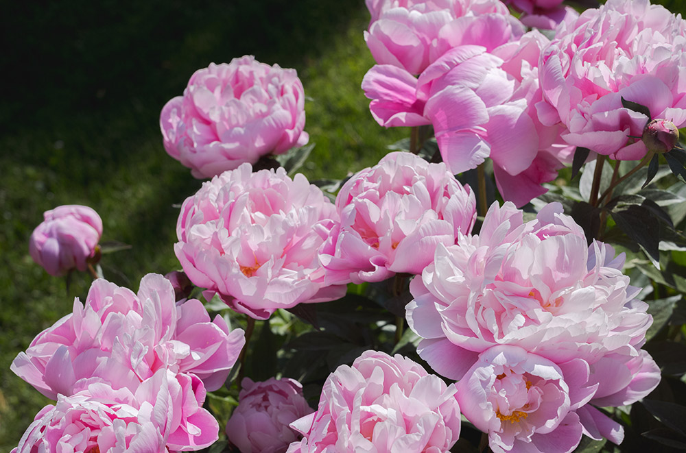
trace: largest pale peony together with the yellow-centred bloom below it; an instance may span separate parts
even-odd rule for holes
[[[624,259],[610,245],[587,247],[561,212],[549,204],[525,223],[512,204],[493,204],[480,234],[439,245],[410,284],[419,355],[460,380],[464,415],[495,451],[552,451],[541,447],[548,434],[565,439],[560,452],[582,432],[619,443],[622,427],[591,405],[632,404],[660,381],[640,349],[652,317]]]

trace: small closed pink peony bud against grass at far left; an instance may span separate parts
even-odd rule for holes
[[[58,206],[43,214],[31,234],[29,253],[51,276],[71,269],[86,270],[102,236],[102,220],[95,210],[78,204]]]

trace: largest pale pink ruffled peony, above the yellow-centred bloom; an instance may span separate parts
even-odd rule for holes
[[[559,204],[528,223],[512,204],[493,204],[479,235],[439,245],[434,263],[412,280],[407,321],[423,338],[419,355],[451,379],[494,345],[558,364],[637,356],[652,317],[623,265],[609,245],[587,247]]]

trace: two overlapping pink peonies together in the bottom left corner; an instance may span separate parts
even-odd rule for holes
[[[138,294],[96,280],[85,304],[76,299],[73,313],[12,363],[57,400],[36,415],[16,452],[205,448],[219,431],[202,407],[206,390],[224,384],[244,343],[242,330],[229,331],[220,316],[211,321],[200,301],[177,306],[163,276],[145,276]]]

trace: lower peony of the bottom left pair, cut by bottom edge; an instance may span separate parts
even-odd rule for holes
[[[55,406],[36,415],[13,453],[165,453],[217,441],[219,426],[202,408],[204,388],[192,375],[161,369],[136,391],[113,389],[98,378],[80,384],[77,393],[58,395]]]

